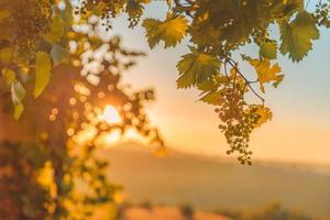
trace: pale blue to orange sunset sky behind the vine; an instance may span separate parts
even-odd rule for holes
[[[164,18],[162,2],[154,3],[148,15]],[[125,75],[133,88],[153,87],[157,101],[148,107],[152,121],[163,133],[168,146],[189,153],[224,155],[227,144],[212,106],[198,100],[193,89],[177,90],[176,63],[187,53],[187,37],[176,48],[163,45],[148,48],[141,26],[129,30],[124,19],[113,23],[113,34],[120,34],[129,48],[147,53],[135,68]],[[276,35],[276,32],[274,32]],[[321,31],[321,40],[299,64],[279,55],[285,79],[278,89],[268,87],[266,106],[274,111],[273,121],[254,132],[251,146],[254,157],[330,164],[330,32]],[[243,51],[257,55],[254,46]],[[243,64],[241,68],[245,68]]]

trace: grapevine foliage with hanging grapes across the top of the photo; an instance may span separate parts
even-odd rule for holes
[[[84,33],[92,42],[95,33],[88,30],[97,26],[110,32],[113,20],[125,14],[128,28],[145,30],[151,48],[158,44],[174,47],[188,38],[189,53],[177,63],[177,88],[200,90],[199,100],[216,107],[230,147],[227,153],[237,153],[242,164],[251,164],[251,133],[273,117],[263,94],[268,85],[277,88],[284,79],[277,55],[294,63],[308,55],[320,28],[330,26],[329,1],[314,6],[304,0],[164,0],[167,11],[160,14],[164,19],[145,16],[146,6],[154,2],[28,0],[23,6],[20,0],[1,1],[0,64],[14,118],[23,113],[28,85],[34,84],[32,92],[40,97],[52,80],[52,69],[77,59],[69,50],[84,44],[79,40]],[[256,45],[258,53],[234,58],[249,44]],[[240,68],[242,62],[255,70],[254,78]],[[99,81],[86,72],[87,80]],[[258,101],[248,101],[251,96]]]

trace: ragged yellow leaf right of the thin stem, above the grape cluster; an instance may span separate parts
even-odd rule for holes
[[[279,75],[282,69],[278,64],[272,65],[268,59],[256,59],[245,55],[242,55],[242,58],[255,68],[260,88],[263,92],[265,92],[264,84],[273,82],[273,86],[277,87],[283,80],[284,75]]]

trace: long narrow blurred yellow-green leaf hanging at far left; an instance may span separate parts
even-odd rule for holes
[[[35,85],[33,96],[38,97],[50,82],[52,62],[45,52],[37,52],[35,59]]]

